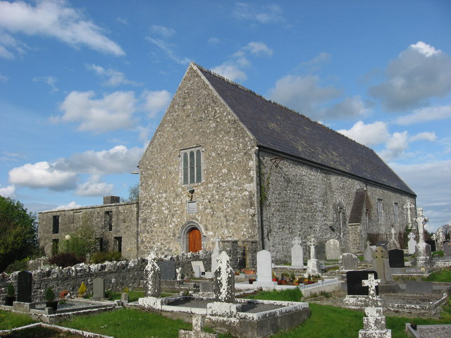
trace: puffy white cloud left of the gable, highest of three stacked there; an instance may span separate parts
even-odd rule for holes
[[[136,111],[133,92],[113,92],[102,99],[92,99],[94,92],[71,92],[60,106],[61,117],[54,122],[80,123],[78,130],[95,133],[126,129],[135,125],[132,115]]]

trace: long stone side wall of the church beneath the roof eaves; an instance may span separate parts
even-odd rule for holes
[[[388,232],[391,225],[395,225],[396,232],[402,232],[407,225],[407,211],[403,206],[407,201],[415,203],[412,196],[264,151],[260,157],[264,182],[264,248],[271,251],[276,263],[290,262],[294,237],[302,240],[304,254],[309,251],[309,235],[321,242],[338,239],[347,250],[362,252],[367,233]],[[369,223],[350,229],[347,220],[357,189],[367,191]],[[377,199],[383,199],[383,223],[378,222]],[[398,223],[393,213],[395,202],[399,206]],[[341,229],[339,208],[342,210]]]

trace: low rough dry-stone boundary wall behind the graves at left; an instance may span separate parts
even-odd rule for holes
[[[206,271],[211,270],[211,251],[199,253],[183,253],[176,256],[164,256],[159,261],[174,261],[175,268],[182,268],[184,278],[193,277],[191,261],[202,261]],[[144,268],[147,258],[132,261],[113,261],[87,265],[80,263],[68,268],[44,268],[30,271],[32,273],[32,301],[43,301],[47,287],[54,290],[58,296],[63,289],[72,295],[78,294],[82,282],[87,286],[87,293],[92,293],[92,281],[103,278],[105,289],[121,292],[125,287],[136,289],[144,285]],[[0,275],[0,301],[6,296],[6,285],[12,283],[17,294],[18,272]]]

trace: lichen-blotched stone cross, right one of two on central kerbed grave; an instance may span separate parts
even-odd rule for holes
[[[218,268],[214,272],[213,292],[215,301],[221,303],[235,301],[235,273],[230,266],[230,258],[226,251],[221,252],[218,258]]]

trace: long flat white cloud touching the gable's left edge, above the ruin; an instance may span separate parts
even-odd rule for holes
[[[60,158],[56,168],[63,171],[88,174],[117,174],[136,170],[144,149],[126,146],[114,146],[109,150],[85,151],[70,158]]]

